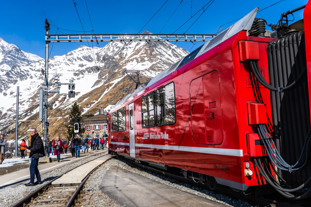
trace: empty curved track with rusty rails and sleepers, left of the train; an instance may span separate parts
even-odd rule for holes
[[[98,164],[96,167],[94,167],[87,175],[85,178],[83,178],[82,182],[78,186],[66,186],[68,185],[61,185],[61,186],[54,186],[52,185],[53,182],[56,182],[59,178],[61,178],[63,175],[73,171],[74,169],[85,166],[86,164],[90,162],[94,162],[95,160],[98,160],[100,158],[103,158],[104,156],[107,156],[107,159],[100,164]],[[86,162],[85,164],[78,166],[74,169],[68,170],[66,173],[63,175],[60,175],[53,180],[47,182],[45,185],[41,186],[39,189],[36,191],[30,193],[29,195],[25,196],[18,202],[14,203],[12,207],[19,207],[19,206],[72,206],[74,205],[75,201],[79,199],[80,192],[82,190],[82,187],[86,180],[89,178],[89,176],[97,169],[100,167],[100,165],[104,164],[108,160],[112,159],[113,156],[108,155],[103,155],[100,156],[99,158],[95,160],[91,160],[89,162]],[[83,168],[83,167],[82,167]],[[84,193],[83,199],[87,199],[91,195],[87,195],[87,193]],[[84,202],[86,200],[79,200],[79,202]]]

